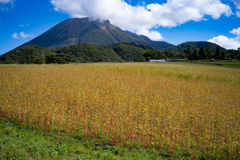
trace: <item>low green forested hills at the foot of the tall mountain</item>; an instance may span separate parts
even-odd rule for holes
[[[138,45],[128,42],[111,45],[80,43],[57,49],[46,49],[36,45],[27,45],[2,55],[0,57],[0,63],[42,64],[137,61],[143,57],[144,53],[150,50],[153,50],[153,48],[145,44]]]

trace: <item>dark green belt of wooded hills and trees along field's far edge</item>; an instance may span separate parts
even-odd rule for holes
[[[183,52],[159,51],[147,45],[116,43],[111,45],[76,44],[57,49],[45,49],[36,45],[14,49],[0,57],[0,64],[65,64],[87,62],[145,62],[151,59],[188,60],[240,60],[240,50],[216,50],[211,48],[188,48]]]

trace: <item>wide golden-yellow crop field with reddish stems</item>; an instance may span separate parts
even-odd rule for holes
[[[240,70],[191,63],[0,66],[0,119],[178,159],[240,158]]]

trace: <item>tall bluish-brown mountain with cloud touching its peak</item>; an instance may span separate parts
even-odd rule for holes
[[[22,46],[34,44],[52,49],[78,43],[105,45],[119,42],[146,44],[158,50],[174,46],[164,41],[152,41],[146,36],[123,31],[111,25],[108,20],[103,22],[90,21],[89,18],[67,19]]]

